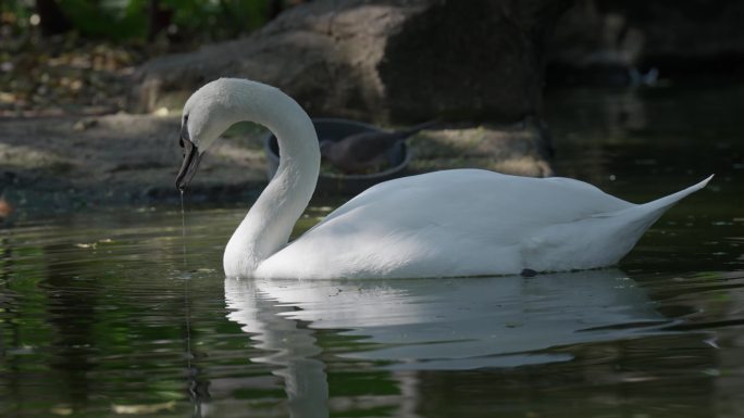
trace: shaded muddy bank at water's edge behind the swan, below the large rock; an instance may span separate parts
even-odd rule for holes
[[[15,208],[10,219],[177,203],[178,125],[177,115],[124,113],[0,119],[0,195]],[[228,130],[203,160],[188,201],[252,201],[268,182],[266,135],[247,123]],[[547,176],[543,135],[532,121],[426,131],[409,141],[409,173],[481,167]]]

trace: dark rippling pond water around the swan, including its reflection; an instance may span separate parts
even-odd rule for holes
[[[560,174],[640,202],[612,269],[225,280],[240,210],[0,229],[2,417],[739,417],[744,89],[554,92]],[[328,208],[315,206],[299,229]]]

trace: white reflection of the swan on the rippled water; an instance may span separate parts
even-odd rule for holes
[[[393,370],[464,370],[570,360],[547,349],[658,331],[668,321],[617,269],[534,278],[225,279],[228,319],[277,366],[294,417],[328,415],[314,330],[358,337],[345,357]],[[416,379],[414,373],[397,373]],[[402,391],[416,382],[399,382]],[[412,396],[416,398],[414,393]],[[405,406],[401,406],[405,407]]]

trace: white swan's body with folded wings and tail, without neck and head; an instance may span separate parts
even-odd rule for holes
[[[265,259],[256,276],[451,277],[616,264],[677,200],[634,205],[568,178],[480,169],[375,186]]]

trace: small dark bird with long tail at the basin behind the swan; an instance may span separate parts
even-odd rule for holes
[[[385,164],[385,153],[398,141],[426,129],[437,121],[430,121],[393,132],[372,131],[348,136],[338,141],[323,140],[321,156],[344,174],[367,174]]]

